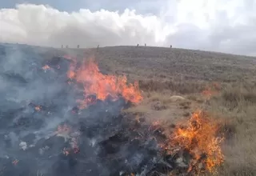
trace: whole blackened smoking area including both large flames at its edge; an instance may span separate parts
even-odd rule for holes
[[[194,175],[222,163],[205,114],[149,124],[123,110],[142,101],[138,84],[90,59],[26,45],[0,54],[0,175]]]

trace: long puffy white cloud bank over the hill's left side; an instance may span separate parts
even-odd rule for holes
[[[142,16],[134,10],[122,14],[100,10],[66,13],[49,6],[18,5],[0,11],[2,42],[36,45],[102,46],[151,43],[162,45],[168,31],[156,16]]]

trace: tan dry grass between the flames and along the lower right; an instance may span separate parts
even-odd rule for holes
[[[142,104],[126,112],[146,116],[149,122],[160,119],[175,123],[203,106],[212,117],[222,118],[221,132],[226,138],[222,146],[225,163],[214,175],[256,175],[255,85],[227,85],[205,103],[200,94],[189,94],[185,100],[172,101],[171,92],[146,92]]]

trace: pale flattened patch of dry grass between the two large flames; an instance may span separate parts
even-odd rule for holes
[[[124,110],[123,113],[145,117],[146,122],[175,123],[190,116],[190,112],[197,109],[197,102],[192,103],[187,98],[173,95],[170,92],[146,92],[141,104]]]

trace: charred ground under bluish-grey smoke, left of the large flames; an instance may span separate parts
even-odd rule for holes
[[[31,46],[0,49],[0,174],[119,175],[153,166],[156,142],[136,139],[120,115],[123,98],[79,110],[83,91],[66,77],[70,60],[43,58]]]

